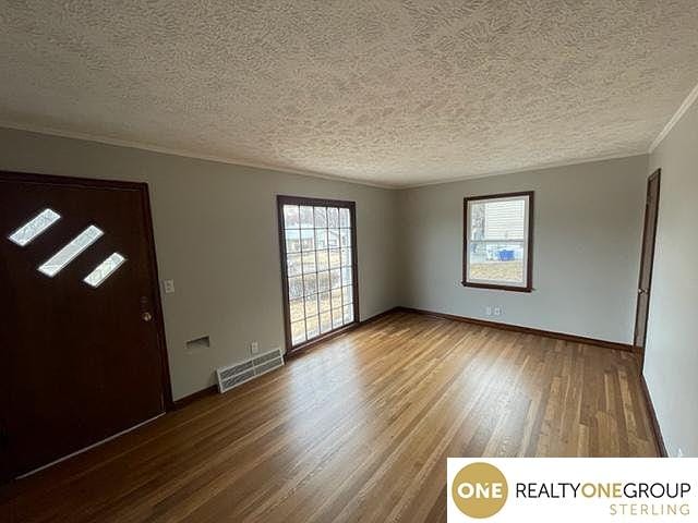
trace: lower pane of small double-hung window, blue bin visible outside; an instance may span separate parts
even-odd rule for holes
[[[524,283],[524,242],[470,242],[468,279]]]

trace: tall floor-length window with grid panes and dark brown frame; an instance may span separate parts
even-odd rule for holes
[[[359,317],[353,202],[278,197],[289,350]]]

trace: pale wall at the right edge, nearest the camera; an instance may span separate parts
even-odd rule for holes
[[[698,457],[698,104],[650,156],[658,168],[645,377],[669,453]]]

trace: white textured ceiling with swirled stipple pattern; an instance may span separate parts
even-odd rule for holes
[[[0,1],[0,121],[389,185],[647,151],[696,0]]]

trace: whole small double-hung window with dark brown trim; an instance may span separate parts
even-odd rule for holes
[[[533,192],[464,200],[462,284],[530,292]]]

